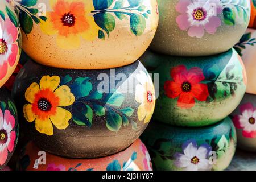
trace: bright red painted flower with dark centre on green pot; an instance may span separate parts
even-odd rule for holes
[[[184,65],[171,69],[172,81],[164,82],[164,92],[169,98],[179,97],[177,106],[189,109],[195,106],[195,98],[199,101],[207,100],[209,96],[207,84],[200,82],[205,79],[203,71],[198,67],[189,70]]]

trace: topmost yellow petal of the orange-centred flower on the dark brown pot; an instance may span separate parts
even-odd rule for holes
[[[56,90],[56,88],[59,86],[60,84],[60,77],[59,76],[43,76],[40,80],[40,89],[46,89],[49,88],[52,90],[52,92],[54,90]]]

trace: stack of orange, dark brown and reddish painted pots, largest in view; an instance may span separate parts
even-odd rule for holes
[[[150,170],[138,138],[154,112],[155,92],[137,59],[155,35],[156,1],[10,3],[23,50],[34,60],[13,88],[22,132],[32,139],[20,169]]]

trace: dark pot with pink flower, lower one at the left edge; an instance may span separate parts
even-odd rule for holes
[[[9,91],[0,89],[0,171],[6,167],[18,140],[18,114]]]

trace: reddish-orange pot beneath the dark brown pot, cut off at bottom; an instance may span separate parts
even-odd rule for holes
[[[46,163],[35,165],[36,159]],[[117,154],[96,159],[61,158],[30,142],[23,148],[18,163],[19,170],[27,171],[152,171],[150,155],[140,139]]]

